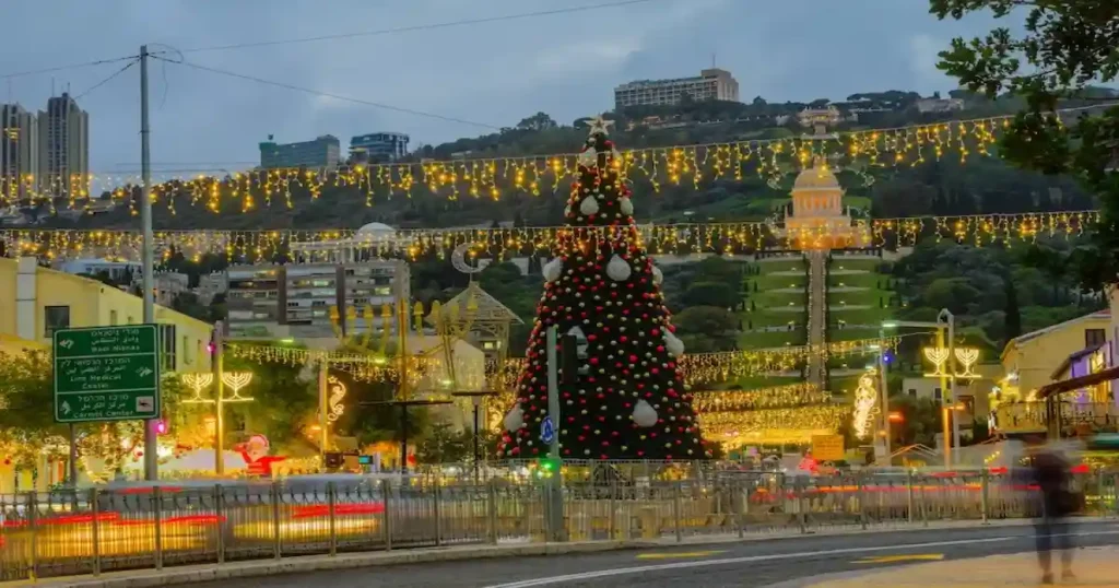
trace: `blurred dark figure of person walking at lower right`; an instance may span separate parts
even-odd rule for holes
[[[1076,493],[1072,488],[1071,465],[1040,438],[1031,439],[1027,454],[1029,480],[1037,487],[1040,517],[1035,523],[1037,562],[1042,568],[1042,584],[1053,584],[1053,547],[1061,550],[1061,578],[1071,580],[1072,525],[1069,516],[1079,510]]]

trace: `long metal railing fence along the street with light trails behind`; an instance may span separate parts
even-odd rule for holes
[[[1116,507],[1116,476],[1078,477],[1088,507]],[[544,541],[547,479],[299,480],[0,496],[0,580],[455,544]],[[982,474],[705,479],[574,477],[568,541],[745,536],[1036,514],[1034,489]]]

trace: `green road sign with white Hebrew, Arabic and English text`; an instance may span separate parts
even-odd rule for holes
[[[55,332],[55,421],[158,419],[154,325]]]

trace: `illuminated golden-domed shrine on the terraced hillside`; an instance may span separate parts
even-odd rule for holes
[[[792,186],[792,214],[779,232],[789,246],[801,250],[866,246],[864,230],[853,226],[843,207],[844,189],[839,179],[820,158],[797,176]]]

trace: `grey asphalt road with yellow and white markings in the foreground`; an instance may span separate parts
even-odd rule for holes
[[[491,559],[366,568],[266,579],[211,582],[207,588],[267,585],[348,588],[560,588],[693,586],[764,587],[800,578],[874,570],[929,560],[952,560],[1033,549],[1033,529],[1002,526],[802,536],[596,554]],[[1078,547],[1119,544],[1119,524],[1076,526]]]

